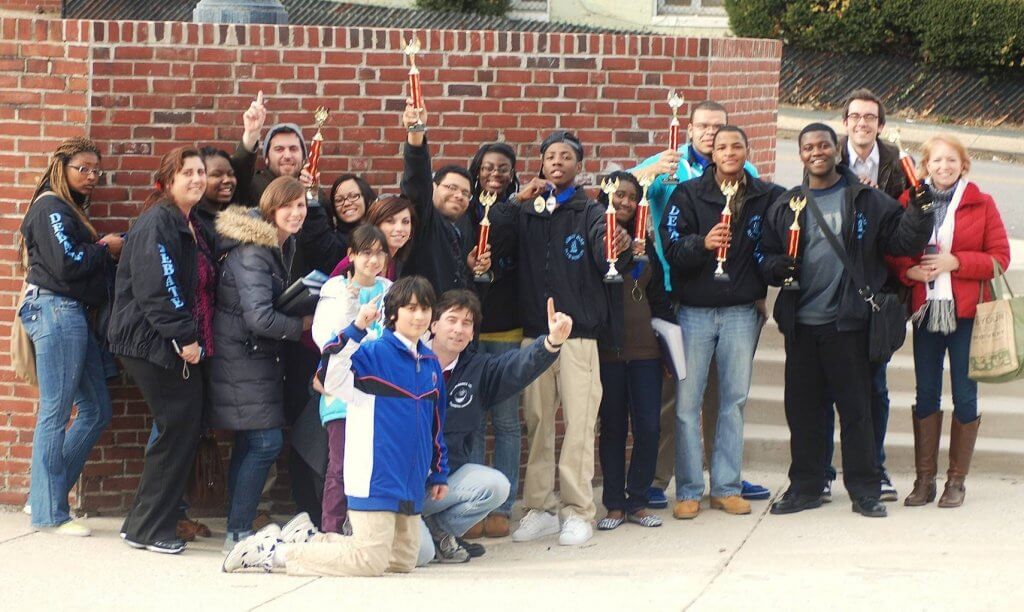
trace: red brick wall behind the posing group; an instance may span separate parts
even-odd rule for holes
[[[398,127],[410,32],[365,28],[199,26],[0,17],[0,504],[28,491],[35,391],[13,382],[8,325],[20,276],[15,233],[47,152],[85,134],[109,173],[92,215],[123,230],[152,183],[159,157],[181,143],[229,146],[257,91],[269,126],[310,125],[333,112],[322,170],[366,175],[396,190]],[[774,170],[780,46],[669,36],[421,32],[418,58],[435,164],[465,164],[484,141],[503,139],[539,168],[538,143],[553,128],[577,131],[585,180],[611,164],[665,147],[670,89],[687,101],[723,100],[752,136],[754,161]],[[686,108],[684,108],[686,111]],[[311,132],[311,130],[310,130]],[[86,468],[82,506],[130,501],[147,435],[134,390],[114,391],[114,423]]]

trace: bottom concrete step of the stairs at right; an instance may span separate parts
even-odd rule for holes
[[[987,423],[985,424],[987,425]],[[986,435],[986,427],[978,435],[971,472],[1020,476],[1024,466],[1024,440]],[[743,465],[752,469],[782,469],[790,465],[790,430],[784,425],[748,424],[745,426]],[[991,431],[991,430],[988,430]],[[939,450],[940,476],[948,466],[949,436],[942,437]],[[886,465],[895,473],[913,470],[913,435],[890,432],[886,437]],[[836,455],[833,465],[842,471],[843,460],[839,432],[836,433]],[[901,495],[909,492],[910,482],[894,483]],[[941,485],[940,485],[941,486]],[[905,490],[904,490],[905,489]]]

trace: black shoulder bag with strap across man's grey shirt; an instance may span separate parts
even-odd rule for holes
[[[860,271],[850,261],[850,256],[840,244],[839,237],[825,223],[821,210],[818,209],[810,190],[806,186],[802,187],[801,190],[804,198],[807,199],[807,208],[814,216],[814,221],[821,228],[821,233],[824,234],[833,251],[843,262],[843,267],[853,278],[853,282],[857,287],[857,295],[870,308],[867,317],[867,358],[871,363],[886,363],[906,341],[906,308],[903,301],[894,293],[871,291],[870,286],[864,282]]]

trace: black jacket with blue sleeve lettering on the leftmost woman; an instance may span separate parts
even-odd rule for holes
[[[29,255],[27,280],[89,306],[105,304],[114,259],[55,193],[29,207],[22,235]]]

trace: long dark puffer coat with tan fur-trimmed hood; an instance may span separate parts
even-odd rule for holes
[[[220,266],[214,346],[210,359],[216,429],[270,429],[285,425],[285,368],[281,347],[299,340],[302,319],[273,309],[288,288],[295,238],[278,247],[278,230],[258,211],[230,207],[217,216]]]

